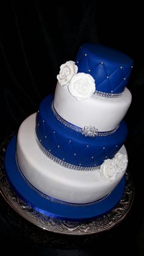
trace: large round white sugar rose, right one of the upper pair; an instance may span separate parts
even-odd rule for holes
[[[95,80],[89,74],[77,73],[71,78],[68,90],[77,100],[86,100],[95,92]]]

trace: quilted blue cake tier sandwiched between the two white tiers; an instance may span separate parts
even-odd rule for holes
[[[37,113],[37,137],[47,152],[74,166],[95,167],[120,150],[128,133],[124,121],[113,134],[86,137],[56,119],[51,108],[53,98],[49,95],[41,101]]]

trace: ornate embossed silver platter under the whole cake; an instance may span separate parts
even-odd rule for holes
[[[128,170],[126,171],[126,188],[124,196],[112,211],[99,218],[90,221],[70,222],[52,219],[33,210],[15,194],[5,177],[4,154],[13,135],[14,134],[11,134],[6,138],[0,147],[0,192],[1,196],[4,197],[7,203],[9,203],[10,207],[27,221],[50,232],[67,235],[90,235],[101,233],[115,227],[115,225],[120,223],[127,216],[134,200],[134,183]]]

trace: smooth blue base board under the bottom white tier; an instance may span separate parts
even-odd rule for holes
[[[41,196],[32,186],[29,186],[26,179],[21,175],[20,170],[16,164],[16,136],[10,141],[5,152],[4,166],[7,180],[10,183],[13,191],[24,201],[27,205],[41,214],[54,219],[65,219],[68,221],[82,221],[84,219],[92,219],[112,210],[115,205],[123,197],[125,189],[125,177],[115,189],[105,197],[103,200],[96,201],[95,203],[81,205],[68,205],[48,200]]]

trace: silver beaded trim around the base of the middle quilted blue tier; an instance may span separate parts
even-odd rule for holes
[[[52,161],[54,161],[57,164],[60,164],[60,166],[63,166],[67,169],[73,169],[73,170],[99,170],[101,166],[93,166],[93,167],[84,167],[84,166],[75,166],[74,164],[70,164],[67,163],[59,158],[57,158],[56,156],[52,155],[52,153],[50,152],[51,150],[46,150],[45,147],[43,147],[43,145],[41,144],[41,142],[39,141],[38,137],[37,137],[37,132],[35,131],[35,139],[37,141],[38,147],[41,149],[41,151],[48,156],[48,158],[50,158]]]

